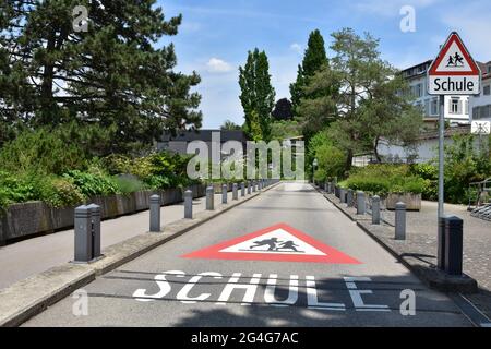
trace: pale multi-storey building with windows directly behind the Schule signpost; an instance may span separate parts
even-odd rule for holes
[[[421,108],[426,122],[436,122],[440,116],[439,96],[428,94],[427,71],[432,60],[412,65],[402,71],[408,81],[415,105]],[[451,124],[469,124],[469,97],[445,96],[444,118]]]

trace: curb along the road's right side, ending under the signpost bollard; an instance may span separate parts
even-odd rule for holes
[[[337,209],[339,209],[345,216],[355,221],[361,230],[363,230],[370,238],[379,243],[385,251],[391,253],[391,255],[393,255],[400,264],[407,267],[428,287],[446,293],[475,293],[478,291],[477,281],[468,275],[463,274],[463,276],[451,276],[442,270],[439,270],[438,268],[409,262],[403,254],[394,250],[390,244],[385,243],[381,237],[379,237],[370,229],[371,220],[357,219],[357,217],[352,216],[337,203],[332,201],[332,198],[328,197],[327,194],[322,192],[319,188],[315,188],[315,190]],[[383,226],[378,227],[383,228]]]

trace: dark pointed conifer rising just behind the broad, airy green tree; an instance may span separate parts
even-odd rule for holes
[[[298,65],[297,80],[290,84],[290,95],[294,115],[297,116],[297,108],[300,99],[306,98],[302,87],[309,83],[309,79],[313,76],[323,65],[327,64],[327,56],[325,53],[324,38],[319,29],[310,33],[303,60]]]

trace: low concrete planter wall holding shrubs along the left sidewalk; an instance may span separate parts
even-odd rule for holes
[[[205,194],[205,185],[194,184],[190,190],[193,197]],[[148,209],[149,196],[158,194],[161,205],[170,205],[182,201],[181,189],[168,189],[165,191],[139,191],[129,194],[116,194],[96,196],[86,203],[95,203],[100,206],[103,219],[115,218]],[[0,245],[8,241],[35,237],[46,232],[55,232],[73,227],[73,207],[53,208],[44,202],[28,202],[13,204],[0,213]]]

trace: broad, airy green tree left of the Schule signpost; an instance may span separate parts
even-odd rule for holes
[[[346,152],[346,170],[356,152],[373,151],[384,137],[410,143],[419,132],[422,117],[410,104],[407,85],[397,71],[380,58],[379,40],[360,37],[350,28],[332,34],[335,57],[304,87],[307,94],[338,86],[335,94],[302,99],[309,123],[335,120],[330,137]],[[334,113],[333,113],[334,112]]]

